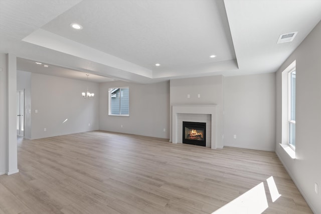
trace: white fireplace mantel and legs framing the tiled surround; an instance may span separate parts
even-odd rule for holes
[[[217,105],[172,105],[172,142],[178,142],[178,114],[211,115],[211,148],[216,149],[216,106]],[[208,130],[207,130],[208,131]]]

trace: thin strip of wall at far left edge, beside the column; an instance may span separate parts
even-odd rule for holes
[[[0,54],[0,175],[7,170],[7,62],[6,54]]]

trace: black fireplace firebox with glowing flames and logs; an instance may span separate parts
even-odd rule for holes
[[[183,121],[183,143],[206,146],[206,123]]]

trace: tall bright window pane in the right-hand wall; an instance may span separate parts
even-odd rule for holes
[[[295,70],[289,72],[289,144],[295,148]]]

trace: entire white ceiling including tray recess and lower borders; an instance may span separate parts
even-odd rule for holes
[[[320,20],[313,0],[0,0],[0,52],[19,70],[95,82],[268,73]]]

